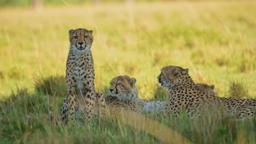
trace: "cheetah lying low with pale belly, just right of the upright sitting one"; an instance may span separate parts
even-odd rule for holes
[[[109,93],[106,98],[109,109],[128,107],[134,112],[158,113],[162,112],[167,104],[166,101],[144,101],[139,99],[136,79],[127,75],[115,77],[110,82]]]

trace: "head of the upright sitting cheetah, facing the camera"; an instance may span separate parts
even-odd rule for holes
[[[83,28],[71,29],[69,30],[69,41],[72,50],[77,52],[88,51],[94,41],[92,30],[88,31]]]

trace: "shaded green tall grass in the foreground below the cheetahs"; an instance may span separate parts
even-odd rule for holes
[[[118,117],[93,117],[91,125],[69,129],[52,124],[61,100],[36,91],[19,89],[0,104],[1,143],[254,143],[256,116],[236,117],[209,112],[199,118],[186,115],[123,113]]]

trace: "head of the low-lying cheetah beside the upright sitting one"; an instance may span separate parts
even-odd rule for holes
[[[135,83],[136,79],[127,75],[115,77],[110,81],[109,94],[113,97],[118,97],[120,100],[132,100],[138,94]]]

